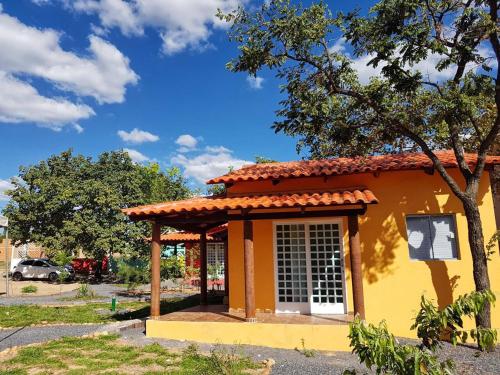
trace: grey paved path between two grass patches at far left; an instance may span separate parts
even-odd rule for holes
[[[55,340],[63,336],[82,336],[99,330],[103,325],[73,325],[24,327],[0,330],[0,350],[18,345]]]

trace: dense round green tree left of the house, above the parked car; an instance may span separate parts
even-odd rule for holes
[[[4,214],[15,242],[69,254],[82,249],[99,260],[144,250],[147,224],[130,222],[122,208],[190,195],[177,169],[138,165],[121,151],[97,160],[65,151],[21,167],[12,182]]]

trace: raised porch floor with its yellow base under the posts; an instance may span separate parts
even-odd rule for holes
[[[201,343],[246,344],[272,348],[350,351],[352,315],[258,313],[247,323],[227,306],[195,306],[146,321],[146,336]]]

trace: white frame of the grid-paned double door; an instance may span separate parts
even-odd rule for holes
[[[277,235],[276,226],[277,225],[294,225],[294,224],[304,224],[305,228],[305,239],[306,239],[306,263],[307,263],[307,294],[309,302],[298,303],[298,302],[279,302],[279,288],[278,288],[278,246],[277,246]],[[337,224],[339,226],[339,238],[340,238],[340,256],[341,256],[341,268],[342,268],[342,292],[344,300],[344,311],[343,313],[332,312],[328,315],[342,315],[347,314],[348,311],[348,301],[347,301],[347,281],[345,276],[345,253],[344,253],[344,221],[343,217],[331,217],[331,218],[321,218],[321,219],[303,219],[303,220],[280,220],[273,221],[273,259],[274,259],[274,301],[275,301],[275,312],[277,314],[310,314],[311,304],[312,304],[312,278],[311,278],[311,244],[310,244],[310,234],[309,225],[310,224]],[[326,314],[326,313],[325,313]]]

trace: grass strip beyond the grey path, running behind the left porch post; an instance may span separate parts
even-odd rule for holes
[[[161,313],[178,311],[198,303],[196,297],[172,298],[161,302]],[[149,316],[147,302],[119,302],[119,310],[128,312],[112,313],[111,303],[87,303],[75,306],[0,306],[0,327],[24,327],[32,324],[57,323],[107,323],[113,321],[141,319]]]

